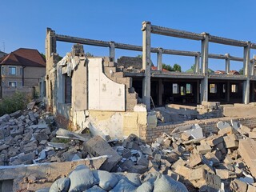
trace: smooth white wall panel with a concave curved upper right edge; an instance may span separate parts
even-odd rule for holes
[[[88,58],[89,110],[125,111],[125,85],[102,72],[102,58]]]

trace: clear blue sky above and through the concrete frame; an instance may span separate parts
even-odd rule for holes
[[[254,0],[0,0],[2,25],[0,50],[6,53],[20,47],[45,52],[46,27],[57,34],[142,46],[142,22],[195,33],[208,32],[225,38],[256,42]],[[58,54],[64,56],[72,44],[59,42]],[[200,51],[198,41],[152,34],[151,46],[173,50]],[[97,56],[109,54],[103,47],[84,46]],[[210,53],[242,57],[242,48],[210,43]],[[137,56],[135,51],[116,50],[116,57]],[[251,51],[251,57],[256,54]],[[156,54],[151,54],[156,65]],[[163,62],[178,63],[190,69],[194,58],[164,55]],[[225,61],[210,59],[210,68],[224,70]],[[231,62],[231,70],[242,68],[242,62]]]

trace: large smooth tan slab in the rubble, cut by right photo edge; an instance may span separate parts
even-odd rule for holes
[[[256,142],[253,139],[244,139],[239,141],[238,152],[250,168],[250,173],[256,177]]]

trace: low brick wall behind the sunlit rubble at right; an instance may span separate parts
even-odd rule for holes
[[[172,125],[164,125],[164,126],[157,126],[155,128],[142,128],[140,130],[140,138],[144,140],[145,142],[154,142],[156,138],[161,136],[163,133],[170,134],[174,128],[178,126],[185,126],[185,125],[192,125],[195,123],[198,123],[199,126],[202,127],[204,134],[209,134],[210,132],[217,132],[218,128],[216,126],[217,122],[223,121],[223,122],[230,122],[230,120],[233,119],[234,121],[240,122],[244,126],[248,126],[250,128],[256,127],[256,117],[250,117],[250,118],[212,118],[207,119],[204,121],[187,121],[184,123],[178,123],[178,124],[172,124]]]

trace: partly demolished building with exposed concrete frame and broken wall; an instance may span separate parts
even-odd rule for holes
[[[47,29],[46,78],[42,90],[46,87],[46,105],[55,115],[68,119],[74,126],[93,124],[110,137],[136,134],[146,140],[150,137],[148,130],[157,126],[157,114],[150,111],[152,103],[163,106],[167,100],[172,103],[192,103],[194,106],[201,104],[193,109],[178,106],[178,110],[185,109],[186,113],[191,111],[192,118],[199,119],[218,118],[223,114],[235,116],[230,112],[234,110],[248,114],[246,106],[255,99],[255,60],[250,58],[250,49],[256,48],[254,43],[173,30],[151,25],[150,22],[143,22],[142,26],[142,46],[74,38]],[[201,41],[202,52],[151,47],[150,34]],[[78,45],[59,62],[57,42]],[[244,47],[244,57],[209,54],[210,42]],[[110,57],[86,58],[82,45],[109,47]],[[142,51],[142,60],[120,58],[115,62],[115,49]],[[158,70],[151,70],[150,52],[158,54]],[[162,54],[194,57],[194,74],[162,71]],[[208,58],[225,59],[226,74],[208,74]],[[244,75],[229,74],[230,61],[243,62]],[[220,102],[232,105],[220,107]],[[245,105],[233,105],[236,102]],[[166,116],[175,114],[175,107],[173,104],[167,107],[170,110]],[[165,114],[167,108],[160,109],[160,112]],[[254,110],[253,107],[250,112]]]

